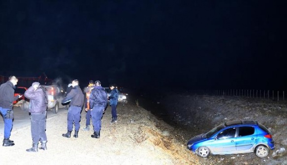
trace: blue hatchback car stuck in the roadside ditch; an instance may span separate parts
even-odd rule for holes
[[[255,152],[259,158],[275,148],[272,133],[254,120],[225,122],[187,143],[188,149],[200,157]]]

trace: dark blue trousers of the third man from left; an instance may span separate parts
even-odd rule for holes
[[[81,120],[81,107],[70,106],[68,110],[68,131],[73,130],[73,123],[75,123],[75,131],[80,129],[80,120]]]

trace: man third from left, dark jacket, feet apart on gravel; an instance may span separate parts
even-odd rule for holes
[[[73,130],[73,122],[75,123],[75,134],[74,138],[78,138],[78,132],[80,129],[80,119],[81,119],[81,110],[84,105],[84,94],[79,87],[79,80],[72,81],[73,89],[69,92],[65,98],[62,100],[62,104],[71,101],[70,107],[68,110],[68,119],[67,119],[67,133],[63,134],[63,137],[70,138],[71,132]]]

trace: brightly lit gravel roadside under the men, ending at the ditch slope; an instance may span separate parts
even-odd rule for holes
[[[79,138],[64,138],[66,113],[47,119],[47,147],[37,153],[26,152],[32,145],[30,125],[13,129],[12,147],[2,147],[2,165],[199,165],[191,160],[185,146],[163,136],[157,128],[158,121],[148,111],[135,105],[118,106],[118,122],[111,124],[110,107],[102,118],[100,139],[93,139],[93,127],[85,127],[85,112],[82,112]],[[72,134],[74,131],[72,132]],[[185,152],[184,156],[180,154]],[[196,157],[195,157],[196,158]]]

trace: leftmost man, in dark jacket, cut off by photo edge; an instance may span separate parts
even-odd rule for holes
[[[0,113],[4,120],[4,140],[2,146],[13,146],[14,141],[11,141],[10,135],[13,126],[13,101],[22,97],[22,95],[14,96],[15,85],[17,85],[18,78],[10,76],[9,80],[0,85]]]

